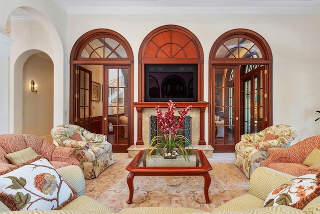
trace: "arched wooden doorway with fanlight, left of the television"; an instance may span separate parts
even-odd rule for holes
[[[82,35],[70,54],[70,124],[108,136],[114,152],[133,144],[133,53],[108,29]]]

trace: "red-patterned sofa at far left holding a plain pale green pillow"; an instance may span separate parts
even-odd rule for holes
[[[19,158],[23,158],[21,153],[30,150],[35,157],[41,155],[51,161],[55,168],[68,165],[80,166],[80,162],[74,157],[75,149],[68,147],[58,147],[53,143],[32,134],[2,134],[0,135],[0,171],[14,167]],[[20,154],[19,154],[20,153]],[[10,162],[5,156],[14,155],[15,159]]]

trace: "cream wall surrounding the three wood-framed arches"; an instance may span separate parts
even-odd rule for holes
[[[179,25],[200,41],[204,53],[204,89],[208,88],[208,57],[214,41],[223,33],[245,28],[260,34],[273,55],[273,124],[297,128],[296,140],[320,134],[319,115],[320,15],[68,15],[68,57],[75,41],[87,31],[106,28],[121,34],[134,55],[134,101],[138,95],[138,50],[144,37],[157,27]],[[77,25],[81,23],[81,25]],[[204,101],[208,91],[204,90]],[[134,115],[136,127],[136,112]],[[135,128],[136,130],[136,128]],[[208,110],[205,140],[208,139]],[[136,131],[134,132],[134,141]]]

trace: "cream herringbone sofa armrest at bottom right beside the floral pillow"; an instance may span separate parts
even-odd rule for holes
[[[275,187],[294,177],[271,168],[258,167],[252,172],[248,192],[264,200]]]

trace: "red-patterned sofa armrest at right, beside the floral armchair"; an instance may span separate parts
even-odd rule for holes
[[[268,166],[270,163],[289,163],[290,155],[286,148],[269,148],[268,158],[261,162],[261,166]]]

